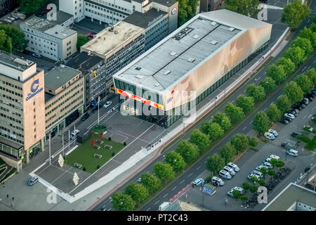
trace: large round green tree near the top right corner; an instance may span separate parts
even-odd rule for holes
[[[284,6],[281,21],[295,30],[309,14],[310,8],[308,6],[302,4],[301,0],[294,0],[289,5]]]

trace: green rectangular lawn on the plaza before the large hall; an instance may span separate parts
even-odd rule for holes
[[[124,148],[124,145],[121,143],[117,143],[114,141],[109,141],[107,139],[103,139],[103,144],[96,143],[97,146],[101,148],[98,150],[91,146],[91,139],[98,139],[98,136],[92,135],[90,139],[81,144],[78,148],[76,148],[70,155],[65,157],[65,163],[70,166],[74,166],[74,163],[77,162],[82,165],[82,167],[86,168],[86,172],[93,173],[98,169],[98,165],[102,167],[105,162],[112,158],[112,153],[119,153],[119,151]],[[109,145],[113,148],[110,150],[109,148],[105,148],[104,146]],[[102,158],[96,158],[94,154],[102,155]]]

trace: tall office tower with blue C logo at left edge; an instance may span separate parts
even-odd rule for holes
[[[44,70],[0,51],[0,157],[18,170],[44,150]]]

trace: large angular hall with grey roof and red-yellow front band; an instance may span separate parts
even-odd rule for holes
[[[196,15],[113,76],[118,94],[155,108],[126,113],[169,127],[261,53],[271,28],[228,10]]]

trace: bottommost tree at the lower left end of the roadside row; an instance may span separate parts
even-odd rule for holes
[[[118,211],[136,210],[136,203],[133,198],[131,198],[131,195],[126,195],[121,192],[114,193],[112,196],[112,204],[114,209]]]

